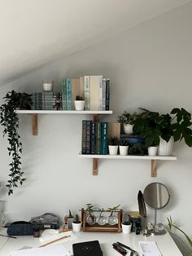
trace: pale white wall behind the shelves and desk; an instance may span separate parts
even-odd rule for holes
[[[33,92],[41,90],[41,80],[79,77],[102,73],[111,78],[111,109],[105,120],[116,121],[124,110],[137,107],[169,113],[184,107],[190,113],[192,68],[192,4],[137,25],[97,46],[76,53],[66,60],[4,86],[7,90]],[[61,218],[85,206],[87,202],[110,207],[120,204],[124,210],[137,210],[137,192],[148,183],[164,183],[171,200],[158,212],[159,222],[166,217],[182,224],[191,235],[191,148],[175,143],[177,161],[158,163],[156,178],[151,178],[150,162],[99,160],[98,176],[92,175],[91,160],[77,157],[81,148],[81,120],[86,116],[41,115],[38,136],[31,133],[30,117],[20,116],[20,134],[24,143],[22,157],[27,181],[15,189],[13,196],[4,191],[8,220],[29,219],[53,212]],[[1,139],[0,180],[7,181],[10,159],[7,140]],[[150,212],[150,211],[149,211]],[[152,219],[151,219],[152,220]]]

